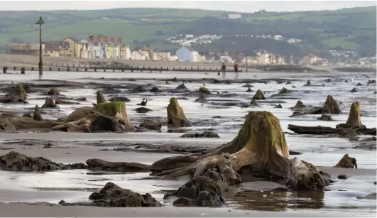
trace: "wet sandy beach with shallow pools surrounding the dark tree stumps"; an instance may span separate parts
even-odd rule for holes
[[[32,58],[31,58],[32,59]],[[7,62],[4,56],[0,62]],[[173,80],[177,77],[177,80]],[[219,82],[213,82],[214,79]],[[230,82],[226,82],[229,80]],[[310,80],[311,85],[307,84]],[[329,82],[331,80],[331,82]],[[126,113],[131,124],[158,121],[160,131],[128,133],[69,133],[64,131],[41,132],[35,129],[0,131],[0,156],[11,151],[29,157],[44,157],[56,163],[85,163],[90,158],[106,161],[135,162],[151,165],[156,160],[210,151],[232,141],[244,125],[249,111],[271,111],[280,121],[285,139],[292,151],[290,158],[299,158],[331,175],[334,182],[324,191],[280,190],[278,182],[241,182],[224,195],[222,207],[175,207],[175,198],[164,199],[167,192],[177,190],[190,178],[177,180],[151,180],[149,173],[104,172],[89,169],[55,170],[45,173],[22,173],[0,170],[0,210],[4,217],[376,217],[376,139],[362,141],[371,136],[359,135],[359,141],[350,138],[293,133],[288,124],[297,126],[328,126],[334,128],[345,123],[353,102],[359,102],[361,121],[367,128],[376,128],[376,73],[329,72],[240,74],[227,78],[203,73],[120,73],[120,72],[26,72],[19,75],[10,71],[1,75],[0,95],[5,96],[16,83],[31,85],[32,92],[23,103],[0,103],[0,112],[23,116],[31,114],[35,105],[42,106],[46,92],[57,87],[56,99],[66,99],[77,104],[60,104],[59,108],[40,109],[43,119],[56,120],[78,108],[93,107],[96,92],[102,90],[106,100],[127,97]],[[13,83],[13,85],[12,85]],[[184,91],[176,89],[182,83]],[[358,85],[358,84],[361,85]],[[207,103],[195,102],[197,89],[205,84],[212,94]],[[135,92],[143,85],[145,92]],[[251,85],[251,91],[246,85]],[[149,91],[158,87],[160,92]],[[278,94],[283,87],[289,94]],[[357,92],[351,92],[356,88]],[[250,102],[257,89],[265,100],[258,107]],[[324,103],[331,94],[339,102],[340,114],[329,114],[332,121],[319,120],[320,114],[291,116],[297,100],[310,107]],[[86,101],[76,101],[85,97]],[[192,126],[168,126],[167,109],[170,97],[176,97]],[[147,113],[138,112],[143,99],[148,99]],[[277,107],[280,104],[281,107]],[[247,107],[246,107],[247,105]],[[182,138],[184,133],[213,131],[219,138]],[[361,147],[358,147],[361,146]],[[364,146],[364,147],[363,147]],[[295,151],[295,153],[293,153]],[[344,156],[356,158],[356,168],[334,168]],[[344,174],[347,179],[338,179]],[[106,208],[87,206],[61,206],[65,202],[90,202],[89,195],[114,182],[120,187],[144,195],[150,193],[163,207]],[[374,195],[375,196],[375,195]]]

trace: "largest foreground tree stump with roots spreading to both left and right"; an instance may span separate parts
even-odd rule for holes
[[[158,160],[151,165],[151,170],[160,170],[160,173],[154,173],[160,179],[175,179],[182,175],[198,178],[207,170],[214,169],[224,175],[229,184],[236,184],[241,182],[239,170],[250,166],[255,171],[289,180],[290,187],[294,188],[303,186],[307,189],[310,184],[305,185],[305,181],[317,181],[316,173],[319,171],[314,166],[301,160],[295,160],[297,164],[291,165],[288,158],[288,146],[279,119],[268,111],[251,111],[239,134],[230,143],[197,158],[177,156]],[[186,162],[181,163],[179,160]],[[295,168],[302,164],[310,165],[310,168]],[[324,187],[320,181],[316,182],[315,188]]]

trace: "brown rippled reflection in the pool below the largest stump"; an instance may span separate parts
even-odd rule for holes
[[[324,192],[276,192],[246,191],[229,198],[236,201],[236,209],[263,211],[286,211],[288,209],[321,209],[324,207]]]

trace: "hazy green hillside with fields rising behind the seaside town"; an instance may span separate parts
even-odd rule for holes
[[[242,13],[239,20],[223,18],[229,11],[200,9],[109,9],[92,11],[0,11],[0,50],[8,43],[38,41],[42,16],[43,40],[82,39],[89,35],[124,38],[131,47],[149,43],[157,50],[175,50],[165,40],[177,33],[226,36],[213,43],[211,50],[236,48],[240,52],[263,47],[285,55],[318,53],[323,50],[354,50],[361,56],[376,53],[376,7],[335,11]],[[105,19],[110,18],[110,19]],[[236,35],[281,35],[298,38],[297,44],[256,38],[237,39]],[[256,46],[256,43],[259,45]],[[235,46],[232,46],[236,44]],[[270,45],[270,46],[268,46]],[[204,48],[203,48],[204,49]]]

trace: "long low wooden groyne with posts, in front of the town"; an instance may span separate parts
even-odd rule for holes
[[[39,71],[38,67],[2,67],[3,72],[13,71]],[[210,68],[210,67],[133,67],[133,66],[75,66],[75,65],[65,65],[61,67],[57,66],[44,66],[43,71],[72,71],[72,72],[221,72],[220,68]],[[226,69],[226,72],[233,72],[234,69]],[[242,70],[239,70],[242,72]]]

